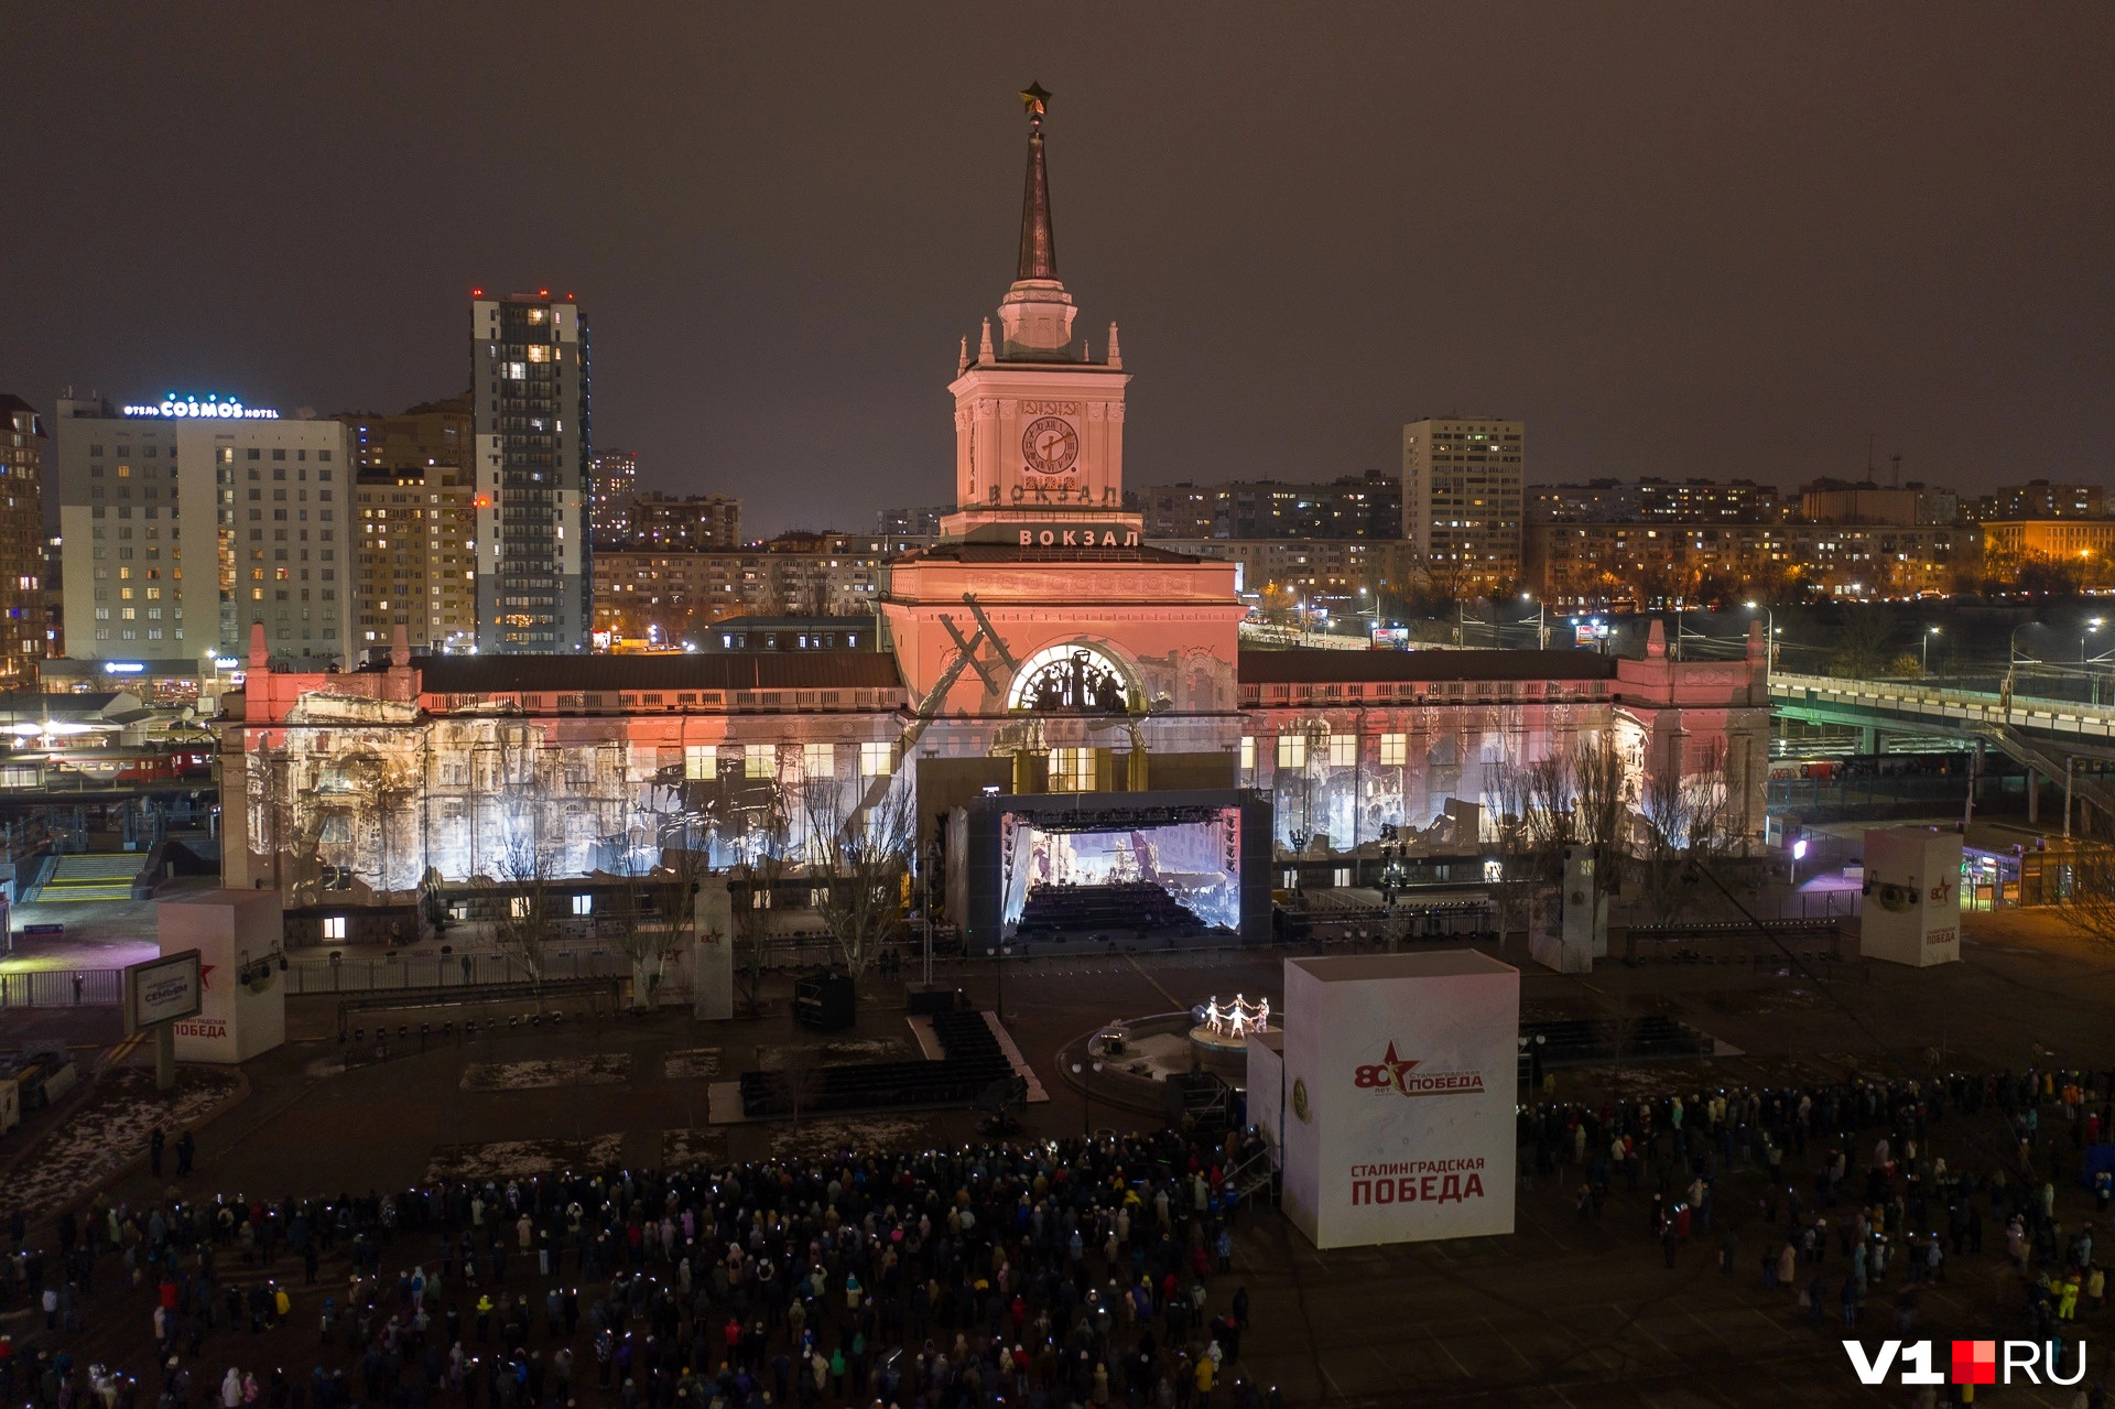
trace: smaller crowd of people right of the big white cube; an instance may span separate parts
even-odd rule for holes
[[[1519,1113],[1523,1181],[1578,1178],[1578,1216],[1601,1219],[1618,1178],[1631,1191],[1652,1181],[1648,1231],[1669,1267],[1724,1223],[1722,1187],[1753,1189],[1762,1284],[1851,1335],[1889,1286],[1893,1333],[1914,1326],[1918,1288],[1944,1282],[1950,1259],[1984,1255],[1986,1229],[2001,1229],[2022,1274],[2022,1335],[2058,1339],[2098,1316],[2109,1288],[2094,1223],[2109,1214],[2115,1170],[2090,1151],[2107,1151],[2111,1134],[2115,1068],[1719,1087]],[[2066,1225],[2058,1187],[2079,1183],[2092,1212]],[[1741,1233],[1724,1227],[1715,1246],[1719,1269],[1739,1271]]]

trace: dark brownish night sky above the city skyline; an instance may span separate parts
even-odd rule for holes
[[[649,487],[869,529],[952,491],[1038,78],[1132,484],[1449,410],[1531,480],[2111,478],[2109,6],[692,11],[11,6],[0,389],[398,410],[550,286]]]

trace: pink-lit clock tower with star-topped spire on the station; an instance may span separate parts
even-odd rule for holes
[[[956,510],[941,520],[950,537],[998,535],[1013,523],[1108,525],[1123,514],[1123,349],[1117,326],[1096,355],[1072,334],[1079,309],[1058,279],[1043,114],[1049,93],[1030,85],[1028,184],[1022,195],[1022,250],[1013,288],[998,303],[998,336],[983,319],[977,351],[969,338],[956,362],[954,487]],[[981,531],[981,533],[979,533]]]

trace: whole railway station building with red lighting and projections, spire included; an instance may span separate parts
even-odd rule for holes
[[[994,795],[1055,812],[1049,795],[1098,793],[1081,804],[1218,817],[1220,842],[1227,817],[1254,817],[1258,846],[1343,857],[1349,874],[1379,857],[1381,827],[1495,817],[1504,766],[1599,736],[1639,795],[1669,772],[1713,781],[1760,846],[1760,637],[1747,660],[1694,664],[1658,637],[1641,660],[1242,652],[1235,563],[1148,544],[1121,508],[1129,372],[1115,328],[1098,345],[1072,332],[1043,95],[1026,97],[1017,277],[996,330],[958,353],[956,504],[937,542],[888,561],[882,649],[260,664],[222,730],[228,884],[408,903],[421,886],[518,878],[525,857],[552,878],[666,846],[797,865],[819,791],[861,810],[905,800],[920,861],[937,819],[981,817]],[[1519,463],[1495,478],[1516,484]],[[1453,844],[1483,842],[1478,823]],[[1121,861],[1096,846],[1049,855]]]

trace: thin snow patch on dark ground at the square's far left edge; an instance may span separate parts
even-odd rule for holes
[[[167,1136],[161,1168],[173,1174],[178,1136],[233,1098],[237,1085],[239,1077],[231,1071],[195,1066],[178,1073],[173,1092],[157,1092],[154,1073],[137,1066],[106,1073],[87,1102],[15,1166],[0,1204],[21,1208],[30,1219],[51,1212],[144,1155],[157,1123]]]

